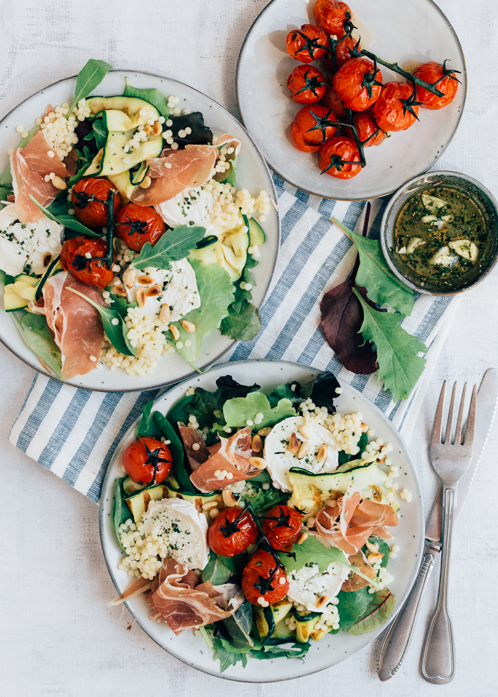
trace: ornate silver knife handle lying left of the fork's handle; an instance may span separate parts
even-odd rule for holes
[[[408,595],[405,604],[384,634],[379,649],[379,656],[377,657],[377,673],[382,682],[393,677],[398,668],[400,668],[401,663],[403,663],[403,658],[405,658],[412,640],[412,632],[420,599],[426,588],[429,576],[431,576],[438,553],[439,548],[426,547],[422,557],[422,564],[410,595]]]

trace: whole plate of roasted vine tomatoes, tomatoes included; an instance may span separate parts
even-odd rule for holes
[[[431,0],[271,0],[245,37],[236,90],[278,175],[354,201],[438,160],[462,117],[466,69]]]

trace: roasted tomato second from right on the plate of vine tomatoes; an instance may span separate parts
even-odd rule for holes
[[[377,126],[386,133],[410,128],[417,121],[419,113],[413,86],[407,82],[386,83],[370,111]]]

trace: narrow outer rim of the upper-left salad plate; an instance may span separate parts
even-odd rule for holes
[[[223,107],[222,104],[220,104],[220,102],[217,102],[215,99],[213,99],[213,97],[206,95],[206,93],[203,93],[201,90],[198,90],[197,88],[192,87],[189,84],[182,82],[181,80],[177,80],[175,78],[170,78],[170,77],[168,77],[166,75],[162,75],[160,73],[150,72],[148,70],[135,70],[133,68],[130,68],[130,69],[128,69],[128,68],[116,68],[116,69],[114,69],[113,68],[113,69],[109,70],[109,73],[126,73],[126,72],[134,72],[134,73],[139,73],[139,74],[142,74],[145,76],[156,77],[159,79],[167,80],[171,83],[176,83],[178,85],[181,85],[182,87],[187,87],[189,90],[193,90],[194,92],[198,93],[202,97],[205,97],[210,102],[213,102],[213,104],[215,104],[217,107],[220,107],[220,109],[225,111],[226,114],[228,114],[231,119],[236,121],[238,123],[238,126],[240,126],[243,129],[243,131],[244,131],[246,137],[248,137],[248,140],[250,141],[250,143],[253,145],[253,147],[256,151],[257,157],[260,159],[264,170],[267,171],[268,179],[269,179],[269,182],[271,184],[271,195],[273,196],[273,200],[277,202],[277,206],[275,209],[275,213],[276,213],[276,252],[274,255],[273,265],[271,267],[271,273],[269,274],[269,278],[267,280],[266,287],[264,288],[264,294],[263,294],[262,300],[261,300],[260,304],[257,305],[257,309],[259,310],[262,307],[262,305],[264,304],[264,302],[267,300],[267,297],[269,295],[271,281],[273,280],[274,275],[275,275],[276,265],[278,263],[278,256],[279,256],[280,250],[281,250],[281,216],[280,216],[280,212],[278,210],[278,198],[277,198],[277,194],[276,194],[275,182],[274,182],[273,177],[271,175],[271,170],[269,168],[269,165],[268,165],[266,159],[264,158],[262,152],[260,151],[260,148],[257,146],[255,140],[253,139],[252,135],[250,135],[247,128],[245,128],[244,124],[241,121],[239,121],[236,118],[236,116],[234,116],[234,114],[231,114],[231,111],[229,111],[228,109]],[[39,90],[36,90],[36,92],[32,93],[31,95],[28,95],[27,97],[25,97],[25,99],[18,102],[18,104],[15,104],[15,107],[12,107],[12,109],[7,111],[6,114],[4,114],[4,116],[1,117],[0,128],[4,124],[4,121],[6,119],[8,119],[9,116],[14,114],[16,109],[21,107],[22,104],[25,104],[25,102],[28,102],[33,97],[41,95],[41,93],[43,93],[45,90],[49,90],[50,88],[55,87],[56,85],[60,85],[61,83],[65,83],[65,82],[68,82],[70,80],[75,80],[77,77],[78,77],[77,75],[71,75],[69,77],[64,77],[64,78],[61,78],[59,80],[55,80],[55,82],[51,82],[50,84],[40,88]],[[1,310],[3,310],[3,308]],[[217,356],[215,356],[214,358],[211,358],[206,363],[203,363],[203,365],[201,365],[199,367],[199,370],[201,370],[203,372],[205,372],[206,370],[209,370],[210,367],[213,365],[213,363],[215,363],[215,361],[217,361],[217,360],[220,360],[220,358],[223,358],[225,353],[227,353],[227,351],[229,351],[231,348],[233,348],[237,342],[238,342],[238,339],[233,339],[230,342],[229,346],[227,346],[227,348],[224,348],[224,350],[221,353],[218,353]],[[35,365],[34,360],[33,360],[33,363],[30,363],[29,360],[27,360],[26,358],[22,358],[22,356],[20,356],[17,353],[17,351],[15,351],[15,348],[10,346],[6,342],[6,340],[4,340],[4,337],[1,334],[1,331],[0,331],[0,344],[5,346],[8,349],[8,351],[13,353],[15,358],[18,358],[19,360],[21,360],[22,363],[24,363],[25,365],[28,365],[30,368],[35,370],[37,373],[40,373],[40,374],[44,375],[45,377],[48,377],[52,380],[60,382],[63,385],[69,385],[70,387],[74,387],[75,389],[86,390],[89,392],[100,392],[100,393],[133,393],[133,392],[141,392],[141,391],[147,392],[150,390],[157,390],[157,389],[161,389],[164,387],[173,387],[176,384],[179,384],[180,382],[187,380],[190,377],[192,377],[193,375],[197,374],[196,370],[191,370],[191,372],[189,372],[188,374],[184,374],[182,377],[180,377],[180,379],[159,382],[159,383],[156,383],[152,386],[149,386],[149,387],[143,388],[143,389],[141,389],[141,388],[125,388],[125,389],[107,388],[106,389],[105,387],[86,387],[83,385],[74,384],[74,382],[72,380],[65,380],[61,377],[50,374],[47,370],[45,370],[43,368],[43,366]],[[33,354],[33,356],[34,356],[34,354]],[[34,358],[36,358],[36,356],[34,356]],[[188,364],[186,363],[186,365],[188,365]]]

